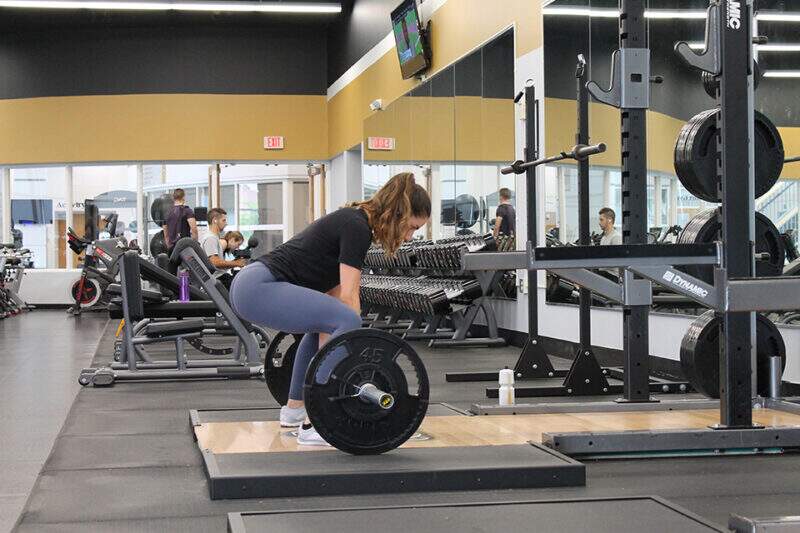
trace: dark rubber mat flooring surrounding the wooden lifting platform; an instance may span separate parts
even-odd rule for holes
[[[114,325],[103,334],[96,364],[111,357]],[[20,340],[19,349],[25,349],[24,342]],[[482,400],[486,384],[446,383],[446,371],[502,368],[518,352],[513,347],[417,349],[431,378],[432,401],[460,408]],[[726,524],[731,512],[796,513],[800,501],[798,455],[588,462],[587,484],[580,488],[212,501],[192,439],[189,410],[275,406],[257,380],[118,383],[108,389],[83,389],[17,531],[220,532],[226,530],[229,512],[638,495],[661,496]]]

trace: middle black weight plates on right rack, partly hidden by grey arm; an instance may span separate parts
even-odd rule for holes
[[[722,227],[718,209],[706,209],[695,215],[678,236],[680,244],[704,244],[721,239]],[[769,260],[756,261],[756,276],[780,276],[786,261],[786,247],[780,231],[765,215],[756,212],[756,253],[769,253]],[[714,267],[710,265],[682,266],[678,270],[707,283],[714,281]]]

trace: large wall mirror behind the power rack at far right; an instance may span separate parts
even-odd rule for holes
[[[684,186],[675,169],[675,145],[684,125],[703,111],[713,109],[715,100],[696,71],[675,54],[678,41],[702,50],[705,37],[706,0],[666,0],[649,3],[648,17],[651,74],[663,77],[651,84],[647,112],[647,224],[650,242],[674,242],[695,217],[716,203],[693,194],[692,183]],[[786,2],[770,3],[770,11],[792,10]],[[686,16],[687,13],[692,16]],[[576,129],[577,54],[587,61],[588,79],[607,88],[611,56],[619,44],[617,2],[556,0],[543,9],[545,66],[545,152],[555,153],[574,144]],[[800,71],[798,23],[757,18],[758,35],[767,45],[756,45],[754,57],[763,73],[755,91],[755,108],[769,118],[780,132],[786,156],[800,155],[798,93],[794,85]],[[619,110],[590,103],[590,142],[604,142],[608,150],[592,157],[590,165],[590,224],[599,234],[598,211],[610,207],[616,214],[616,231],[621,231],[622,176],[620,169]],[[796,140],[797,139],[797,140]],[[758,156],[758,154],[757,154]],[[767,216],[776,231],[784,234],[787,249],[796,243],[800,224],[800,164],[786,164],[780,179],[755,200],[758,211]],[[552,245],[573,243],[578,238],[578,183],[574,164],[550,165],[545,169],[545,229]],[[693,192],[692,192],[693,191]],[[693,242],[693,241],[686,241]],[[553,276],[549,276],[552,278]],[[575,293],[549,279],[551,302],[574,302]],[[561,290],[557,290],[561,289]],[[672,307],[661,311],[687,312]],[[689,310],[688,312],[694,312]]]

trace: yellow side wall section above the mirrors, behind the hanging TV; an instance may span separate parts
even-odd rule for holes
[[[527,54],[542,46],[541,18],[540,4],[530,0],[449,0],[431,20],[433,65],[429,74],[512,25],[517,57]],[[402,79],[394,49],[384,54],[328,102],[329,154],[335,156],[362,141],[370,102],[376,98],[392,102],[416,84]]]

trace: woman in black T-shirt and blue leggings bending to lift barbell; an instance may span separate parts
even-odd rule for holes
[[[299,444],[327,444],[306,416],[303,383],[312,358],[331,335],[361,327],[361,267],[370,244],[375,241],[394,254],[430,215],[430,197],[414,175],[397,174],[369,200],[320,218],[234,278],[231,303],[242,318],[305,334],[280,415],[281,426],[299,428]]]

